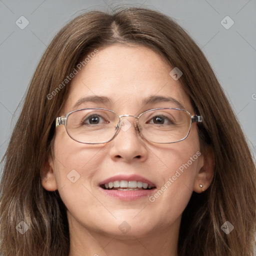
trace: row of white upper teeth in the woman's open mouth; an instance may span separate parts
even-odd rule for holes
[[[105,188],[106,189],[110,189],[110,188],[118,188],[118,190],[138,190],[136,188],[148,188],[151,189],[152,186],[148,185],[145,182],[141,182],[141,181],[136,181],[136,180],[132,180],[132,181],[128,181],[128,180],[114,180],[114,181],[110,181],[108,183],[105,183]]]

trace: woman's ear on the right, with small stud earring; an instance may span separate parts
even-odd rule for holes
[[[200,157],[202,158],[202,166],[199,169],[194,181],[193,190],[197,193],[201,193],[206,190],[212,181],[215,167],[215,157],[213,150],[210,146],[207,146]],[[202,185],[200,187],[199,185]]]

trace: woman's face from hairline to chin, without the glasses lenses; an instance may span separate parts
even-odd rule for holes
[[[152,108],[180,108],[173,100],[143,103],[155,96],[171,97],[195,114],[179,80],[170,76],[171,69],[157,53],[143,46],[98,48],[72,79],[61,115],[90,107],[136,116]],[[109,100],[81,100],[87,96]],[[64,125],[56,128],[53,156],[49,157],[54,181],[49,179],[44,187],[58,189],[71,229],[142,237],[178,228],[192,191],[201,191],[204,159],[195,123],[186,139],[159,144],[136,132],[134,117],[124,119],[119,133],[101,144],[79,143],[69,137]],[[100,186],[116,180],[150,182],[155,188],[127,191]]]

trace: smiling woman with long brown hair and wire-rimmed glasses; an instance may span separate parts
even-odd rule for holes
[[[203,53],[144,8],[84,13],[43,54],[1,179],[10,255],[252,255],[255,166]]]

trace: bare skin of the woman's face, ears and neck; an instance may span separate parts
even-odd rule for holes
[[[72,79],[61,115],[83,107],[107,108],[119,115],[177,107],[170,102],[143,105],[142,99],[150,95],[171,96],[194,114],[179,81],[169,75],[172,68],[157,53],[144,46],[123,44],[98,50]],[[79,98],[88,95],[107,96],[112,104],[89,102],[73,108]],[[133,117],[126,119],[135,121]],[[118,174],[139,174],[160,189],[197,151],[196,123],[186,139],[171,144],[149,142],[134,126],[120,130],[107,143],[83,144],[71,139],[64,125],[58,126],[53,155],[43,168],[42,185],[49,191],[58,189],[66,205],[69,256],[176,256],[181,214],[192,191],[202,192],[212,180],[214,157],[209,148],[153,202],[147,196],[131,201],[111,198],[102,193],[98,183]],[[72,169],[80,175],[74,183],[67,178]],[[123,221],[130,226],[127,233],[118,228]]]

